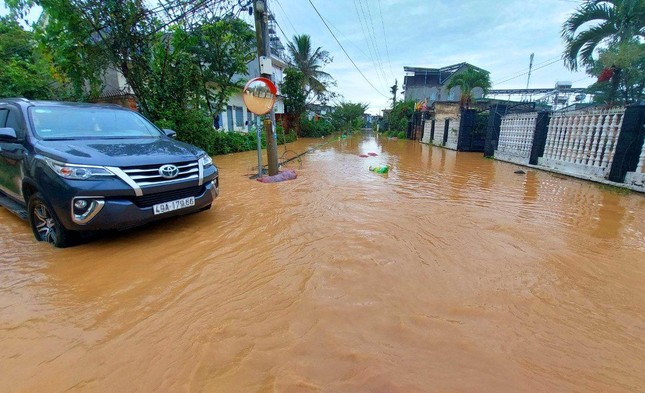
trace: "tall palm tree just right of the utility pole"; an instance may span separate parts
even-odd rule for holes
[[[305,96],[310,93],[318,96],[327,90],[325,81],[331,79],[331,75],[322,71],[325,64],[329,63],[329,52],[321,47],[312,50],[311,38],[307,34],[293,36],[293,41],[287,44],[291,55],[290,65],[298,69],[304,75],[303,89]]]

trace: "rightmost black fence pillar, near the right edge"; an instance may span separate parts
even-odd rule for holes
[[[627,172],[633,172],[645,139],[645,105],[630,105],[625,109],[623,126],[616,141],[616,154],[611,162],[609,180],[623,183]]]

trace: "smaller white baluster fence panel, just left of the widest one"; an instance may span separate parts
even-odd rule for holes
[[[495,158],[522,165],[528,164],[537,117],[537,112],[503,116]]]

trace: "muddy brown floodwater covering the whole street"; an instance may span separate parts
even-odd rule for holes
[[[643,195],[371,135],[215,162],[212,210],[70,249],[0,209],[0,391],[645,391]]]

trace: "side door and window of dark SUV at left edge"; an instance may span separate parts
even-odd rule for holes
[[[0,191],[22,202],[23,162],[27,155],[24,147],[24,122],[17,108],[0,106],[0,127],[11,127],[17,140],[0,137]]]

